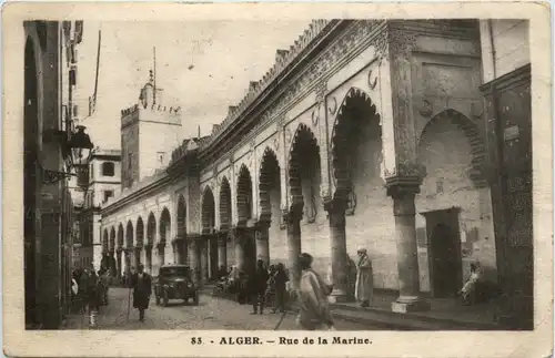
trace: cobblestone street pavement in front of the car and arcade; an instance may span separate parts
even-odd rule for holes
[[[273,330],[280,320],[280,314],[270,310],[263,315],[251,315],[252,307],[234,301],[201,295],[199,306],[184,305],[171,300],[168,307],[159,307],[151,297],[144,323],[139,321],[139,311],[131,307],[128,321],[129,289],[110,288],[110,304],[101,307],[98,316],[99,329],[239,329]],[[337,330],[373,330],[364,324],[337,320]],[[65,329],[88,329],[87,315],[68,317]],[[299,329],[294,315],[287,314],[279,330]]]

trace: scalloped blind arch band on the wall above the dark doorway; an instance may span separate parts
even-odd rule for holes
[[[456,126],[464,136],[467,139],[471,146],[471,170],[467,172],[468,178],[473,182],[475,187],[483,187],[487,185],[484,175],[484,164],[485,164],[485,141],[482,137],[477,125],[471,121],[467,116],[453,109],[447,109],[434,115],[424,126],[420,136],[417,145],[417,156],[421,155],[422,139],[437,124],[443,121],[447,121],[452,125]]]

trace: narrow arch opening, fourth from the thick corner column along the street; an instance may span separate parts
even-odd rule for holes
[[[256,246],[254,232],[244,229],[252,217],[252,180],[251,172],[243,164],[239,170],[238,178],[238,228],[235,239],[235,260],[239,267],[249,275],[256,267]]]

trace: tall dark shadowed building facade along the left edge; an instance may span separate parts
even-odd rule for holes
[[[57,329],[70,303],[73,204],[63,143],[82,24],[23,22],[27,329]]]

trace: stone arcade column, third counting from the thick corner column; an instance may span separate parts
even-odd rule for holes
[[[287,256],[289,272],[292,288],[299,288],[301,279],[301,267],[299,256],[301,255],[301,218],[302,207],[294,206],[290,211],[283,211],[283,221],[287,228]]]

